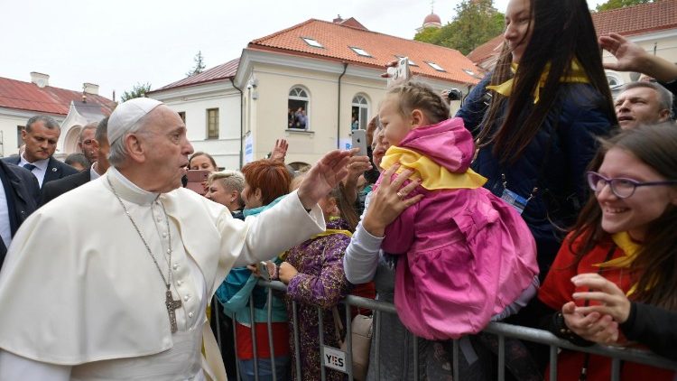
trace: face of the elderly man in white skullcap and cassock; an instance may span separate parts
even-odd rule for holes
[[[144,172],[156,184],[153,191],[168,192],[181,187],[193,147],[186,137],[186,125],[169,107],[156,107],[148,125],[137,135],[144,144]]]

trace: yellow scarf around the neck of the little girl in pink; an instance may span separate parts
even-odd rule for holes
[[[403,172],[405,169],[413,170],[414,173],[411,178],[422,179],[421,185],[427,190],[472,190],[481,187],[487,182],[486,178],[469,168],[464,173],[450,172],[421,153],[393,145],[385,153],[383,160],[381,160],[381,166],[387,169],[398,162],[402,166],[397,170],[397,173]]]

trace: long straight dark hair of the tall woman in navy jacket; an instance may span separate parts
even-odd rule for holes
[[[616,124],[613,99],[602,67],[602,55],[595,26],[585,0],[530,0],[533,28],[517,71],[512,94],[505,98],[496,92],[478,136],[478,147],[494,144],[493,153],[501,163],[515,163],[541,129],[553,105],[560,96],[560,79],[570,75],[575,58],[588,76],[589,83],[602,96],[601,107],[612,124]],[[513,77],[510,68],[512,54],[504,42],[503,50],[491,76],[491,84],[499,85]],[[546,64],[550,71],[540,99],[533,105],[533,92]],[[589,105],[595,95],[580,94],[580,104]],[[505,105],[507,102],[507,105]],[[504,109],[506,107],[505,113]],[[589,106],[586,106],[589,107]],[[505,117],[503,117],[505,116]],[[494,129],[493,125],[499,125]]]

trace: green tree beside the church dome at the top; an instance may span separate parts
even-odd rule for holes
[[[414,40],[433,43],[468,54],[503,32],[504,14],[493,0],[464,0],[456,6],[456,17],[440,29],[426,28]]]

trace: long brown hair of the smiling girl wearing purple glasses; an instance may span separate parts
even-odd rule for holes
[[[665,122],[658,125],[641,125],[602,141],[598,156],[590,164],[597,171],[604,154],[611,148],[620,148],[633,154],[639,161],[652,167],[668,180],[677,180],[677,125]],[[677,188],[676,188],[677,189]],[[602,229],[602,211],[594,195],[581,210],[579,219],[565,245],[576,254],[580,262],[595,246],[610,241]],[[677,311],[677,207],[670,204],[663,214],[649,223],[645,242],[631,265],[637,279],[632,297],[663,308]],[[580,245],[573,243],[580,239]]]

